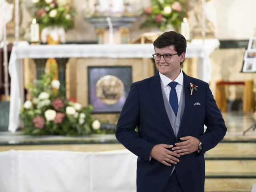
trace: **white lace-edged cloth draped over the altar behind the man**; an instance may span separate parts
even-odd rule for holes
[[[192,40],[187,45],[186,58],[199,58],[198,78],[210,81],[210,54],[218,48],[217,39]],[[152,44],[64,44],[13,46],[9,62],[11,76],[10,116],[8,130],[15,132],[19,126],[19,110],[22,105],[23,58],[152,58]]]

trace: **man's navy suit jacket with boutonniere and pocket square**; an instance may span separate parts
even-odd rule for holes
[[[176,174],[184,192],[204,191],[204,153],[224,138],[226,126],[208,83],[183,74],[185,109],[177,137],[165,110],[159,73],[133,83],[122,108],[116,138],[138,156],[137,192],[160,192],[164,188],[173,166],[165,166],[154,158],[149,161],[150,152],[156,144],[174,145],[182,142],[179,138],[184,136],[198,138],[203,150],[180,156]],[[192,95],[187,88],[190,83],[198,86]],[[194,106],[196,102],[200,105]]]

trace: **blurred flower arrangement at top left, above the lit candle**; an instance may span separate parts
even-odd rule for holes
[[[74,8],[57,0],[32,0],[35,7],[34,17],[40,28],[50,26],[63,27],[64,30],[74,26]]]

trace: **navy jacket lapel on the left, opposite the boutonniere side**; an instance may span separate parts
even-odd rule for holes
[[[172,130],[172,126],[170,124],[169,118],[165,110],[159,73],[153,76],[151,83],[149,83],[149,88],[150,88],[150,92],[153,97],[153,100],[156,104],[156,108],[158,109],[158,112],[162,116],[164,123],[166,124],[172,136],[175,137],[174,132]]]

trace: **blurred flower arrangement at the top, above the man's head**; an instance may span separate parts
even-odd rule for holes
[[[180,28],[180,24],[185,16],[185,10],[180,0],[151,0],[151,6],[144,9],[142,16],[146,21],[141,27],[158,27],[164,31],[173,27]]]

